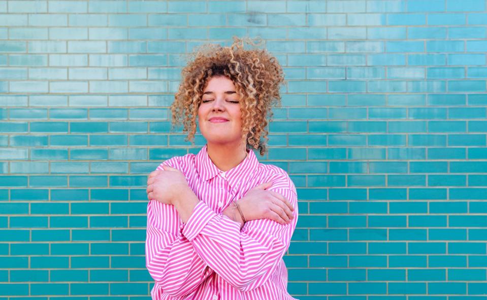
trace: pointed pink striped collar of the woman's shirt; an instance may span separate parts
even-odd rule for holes
[[[243,179],[248,179],[258,165],[257,157],[252,150],[247,150],[247,157],[234,168],[226,171],[225,178],[232,187],[236,187]],[[207,145],[196,155],[196,169],[200,177],[208,181],[220,173],[218,167],[211,161],[207,152]]]

